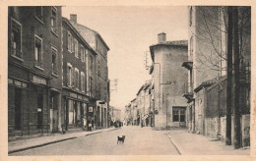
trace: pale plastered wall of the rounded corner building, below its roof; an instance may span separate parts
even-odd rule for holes
[[[187,47],[155,47],[155,110],[159,109],[159,114],[155,115],[156,128],[165,128],[166,118],[168,126],[175,126],[172,125],[172,106],[187,105],[186,99],[182,97],[184,91],[181,87],[186,82],[187,71],[181,67],[186,55]]]

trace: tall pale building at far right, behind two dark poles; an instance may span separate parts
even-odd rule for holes
[[[188,10],[189,50],[182,67],[188,70],[184,97],[188,100],[189,131],[224,140],[226,95],[231,94],[226,93],[226,7],[190,6]],[[240,112],[244,137],[245,129],[250,128],[250,7],[238,7],[238,15]],[[231,127],[233,135],[233,121]]]

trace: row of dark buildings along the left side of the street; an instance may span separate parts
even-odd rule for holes
[[[60,6],[8,9],[8,135],[107,128],[107,51]]]

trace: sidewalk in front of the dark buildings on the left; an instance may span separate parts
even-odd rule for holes
[[[101,129],[96,130],[93,132],[77,132],[77,133],[70,133],[70,134],[51,134],[48,136],[40,136],[30,139],[22,139],[16,141],[8,142],[8,154],[31,149],[34,147],[44,146],[50,143],[60,142],[68,139],[74,139],[81,136],[91,135],[91,134],[99,134],[108,131],[118,130],[118,128],[108,128],[108,129]]]

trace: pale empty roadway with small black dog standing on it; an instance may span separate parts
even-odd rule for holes
[[[117,135],[126,135],[124,144],[117,144]],[[146,127],[123,127],[102,134],[93,134],[11,155],[178,155],[163,131]]]

